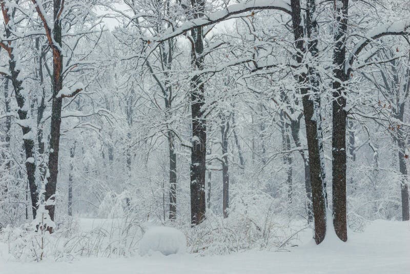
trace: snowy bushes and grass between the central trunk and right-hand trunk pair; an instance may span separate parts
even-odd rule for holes
[[[190,251],[227,254],[283,246],[292,231],[289,224],[285,226],[288,221],[275,212],[277,203],[262,191],[240,189],[232,195],[228,218],[209,211],[203,223],[187,230]]]

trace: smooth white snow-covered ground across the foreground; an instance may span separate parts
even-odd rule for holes
[[[349,233],[347,243],[330,234],[316,246],[311,232],[290,252],[249,250],[227,256],[195,254],[135,256],[133,258],[83,258],[71,263],[44,261],[21,263],[0,252],[1,274],[112,274],[112,273],[409,273],[410,222],[375,221],[363,233]],[[3,259],[1,258],[3,257]]]

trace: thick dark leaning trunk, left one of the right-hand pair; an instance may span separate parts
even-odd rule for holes
[[[291,0],[292,6],[292,25],[295,36],[295,46],[297,49],[296,61],[301,66],[303,64],[303,27],[301,26],[301,9],[300,1]],[[320,144],[318,139],[318,127],[316,123],[315,102],[307,96],[308,89],[306,86],[306,74],[297,75],[300,84],[300,92],[303,95],[303,113],[306,125],[306,139],[308,140],[309,164],[312,185],[313,213],[315,220],[315,241],[320,244],[326,234],[326,203],[322,182],[322,165],[320,159]]]

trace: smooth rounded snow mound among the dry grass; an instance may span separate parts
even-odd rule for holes
[[[178,229],[166,226],[151,227],[139,242],[139,255],[159,251],[163,255],[185,253],[187,240]]]

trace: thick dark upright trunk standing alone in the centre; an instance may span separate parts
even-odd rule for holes
[[[205,1],[191,0],[194,9],[194,17],[203,15]],[[193,69],[203,69],[203,32],[202,27],[191,31],[193,43],[191,45],[191,65]],[[203,106],[204,83],[200,75],[191,79],[191,119],[192,119],[192,148],[191,148],[191,223],[200,224],[205,218],[205,172],[207,156],[207,127],[204,118]]]

